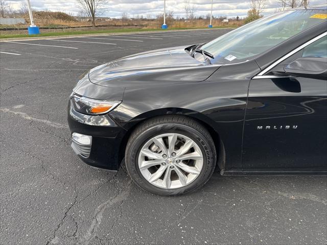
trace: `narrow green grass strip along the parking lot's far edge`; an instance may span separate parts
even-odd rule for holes
[[[213,27],[214,29],[226,28],[226,26]],[[237,26],[228,26],[228,28],[237,28]],[[188,29],[206,29],[206,28],[169,28],[169,30],[188,30]],[[41,30],[42,31],[42,30]],[[19,38],[19,37],[51,37],[51,36],[67,36],[67,35],[83,35],[83,34],[101,34],[101,33],[121,33],[121,32],[145,32],[145,31],[165,31],[160,28],[155,29],[110,29],[110,30],[90,30],[90,31],[74,31],[74,32],[51,32],[40,33],[38,35],[28,34],[0,34],[0,38]],[[26,30],[27,32],[27,30]]]

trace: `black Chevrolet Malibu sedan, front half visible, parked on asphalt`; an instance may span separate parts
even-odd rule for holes
[[[221,175],[327,173],[327,8],[100,65],[68,105],[72,148],[161,195]]]

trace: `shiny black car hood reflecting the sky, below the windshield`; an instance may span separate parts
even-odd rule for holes
[[[149,86],[202,81],[218,67],[192,58],[182,46],[114,60],[91,69],[88,77],[90,82],[107,87]]]

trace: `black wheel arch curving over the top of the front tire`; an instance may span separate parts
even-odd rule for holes
[[[124,128],[127,130],[125,135],[123,136],[120,146],[119,146],[119,162],[121,162],[125,156],[125,150],[126,145],[128,142],[128,139],[132,132],[137,128],[139,125],[141,125],[144,121],[147,121],[149,119],[159,117],[159,116],[184,116],[189,117],[193,120],[198,121],[200,124],[202,124],[206,130],[208,130],[209,134],[214,140],[215,148],[217,152],[217,162],[219,169],[222,170],[225,168],[225,148],[224,143],[219,135],[219,133],[215,130],[214,124],[215,122],[204,115],[203,113],[184,109],[184,108],[160,108],[151,110],[145,113],[142,113],[133,119],[131,119],[126,125],[124,125]]]

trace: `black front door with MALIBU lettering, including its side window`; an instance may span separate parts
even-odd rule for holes
[[[245,171],[327,169],[327,81],[282,75],[294,59],[327,61],[326,53],[324,36],[272,68],[274,73],[268,74],[277,74],[274,78],[251,80],[242,150]]]

